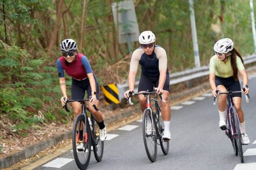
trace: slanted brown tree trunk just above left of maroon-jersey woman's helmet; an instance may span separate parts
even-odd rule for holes
[[[58,8],[57,8],[57,18],[56,18],[53,32],[51,34],[51,41],[49,42],[47,55],[49,55],[51,53],[53,45],[55,44],[56,39],[57,39],[57,32],[59,31],[59,27],[60,27],[60,20],[61,20],[61,14],[62,14],[62,10],[63,10],[62,9],[63,4],[64,4],[64,0],[60,0]]]

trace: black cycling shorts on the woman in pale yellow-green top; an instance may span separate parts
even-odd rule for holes
[[[215,75],[215,84],[216,87],[218,85],[223,85],[225,88],[228,88],[230,91],[241,91],[241,86],[239,80],[235,80],[233,76],[228,78],[222,78],[220,76]],[[232,97],[242,97],[241,93],[232,94]]]

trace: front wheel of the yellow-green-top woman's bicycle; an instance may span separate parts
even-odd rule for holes
[[[238,155],[240,157],[241,163],[243,163],[243,148],[242,148],[242,134],[241,134],[241,126],[240,122],[238,120],[238,115],[237,111],[235,108],[232,108],[233,112],[233,119],[234,119],[234,129],[236,133],[236,143],[237,143],[237,150],[238,150]]]

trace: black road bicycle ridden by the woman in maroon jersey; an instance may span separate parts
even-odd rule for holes
[[[92,149],[97,162],[101,161],[104,151],[104,142],[100,141],[100,128],[96,120],[92,113],[90,113],[85,107],[85,101],[89,101],[89,99],[67,100],[63,108],[69,112],[67,103],[74,101],[78,101],[82,104],[82,113],[76,117],[73,125],[73,154],[77,167],[80,169],[86,169],[90,162]],[[95,105],[93,105],[93,108],[98,111],[98,108],[96,108]]]

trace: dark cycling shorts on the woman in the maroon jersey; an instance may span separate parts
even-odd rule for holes
[[[98,87],[98,80],[96,76],[94,75],[94,79],[96,82],[96,98],[97,100],[100,99],[100,90]],[[86,78],[84,80],[76,80],[72,78],[72,87],[71,87],[71,97],[72,100],[82,100],[85,96],[85,91],[87,90],[87,95],[92,96],[92,88],[90,88],[90,82],[89,78]]]

